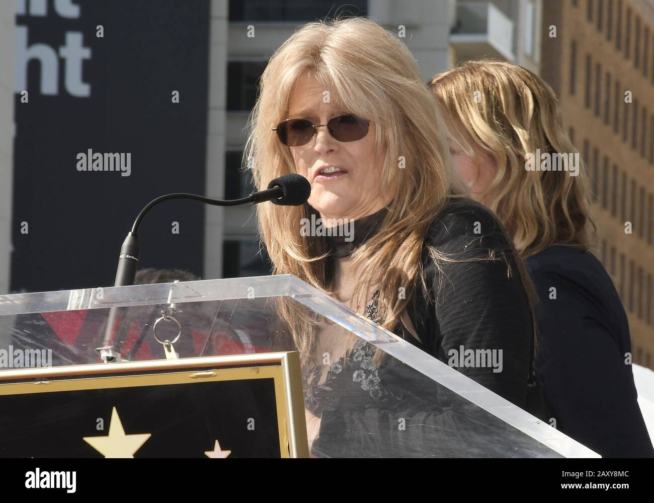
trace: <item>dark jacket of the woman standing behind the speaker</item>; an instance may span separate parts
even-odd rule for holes
[[[627,356],[627,315],[610,276],[591,253],[568,246],[526,263],[540,298],[538,375],[557,429],[602,456],[654,456]]]

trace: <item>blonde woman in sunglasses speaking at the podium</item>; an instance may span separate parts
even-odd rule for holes
[[[311,196],[303,206],[258,205],[260,235],[273,274],[298,276],[443,362],[461,346],[502,350],[501,372],[458,370],[528,409],[536,387],[526,273],[494,216],[462,196],[442,126],[398,37],[365,18],[303,26],[262,75],[245,158],[259,189],[299,173]],[[354,240],[338,230],[304,235],[301,222],[312,215],[354,219]],[[304,363],[314,453],[402,456],[427,448],[426,435],[457,434],[453,422],[439,426],[450,417],[444,406],[426,410],[394,390],[399,374],[374,346],[339,345],[333,326],[296,318],[290,331]],[[415,427],[398,432],[394,417]],[[462,454],[443,447],[425,455]]]

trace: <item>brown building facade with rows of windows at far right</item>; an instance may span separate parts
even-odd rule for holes
[[[633,361],[652,369],[654,1],[548,1],[542,33],[542,77],[593,179],[596,255],[627,311]]]

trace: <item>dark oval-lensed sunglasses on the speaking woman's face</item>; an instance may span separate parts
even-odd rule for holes
[[[279,141],[284,145],[300,147],[309,143],[322,126],[327,126],[329,134],[338,141],[356,141],[368,134],[370,121],[351,114],[332,117],[327,124],[313,124],[307,119],[286,119],[279,122],[273,131],[277,131]]]

